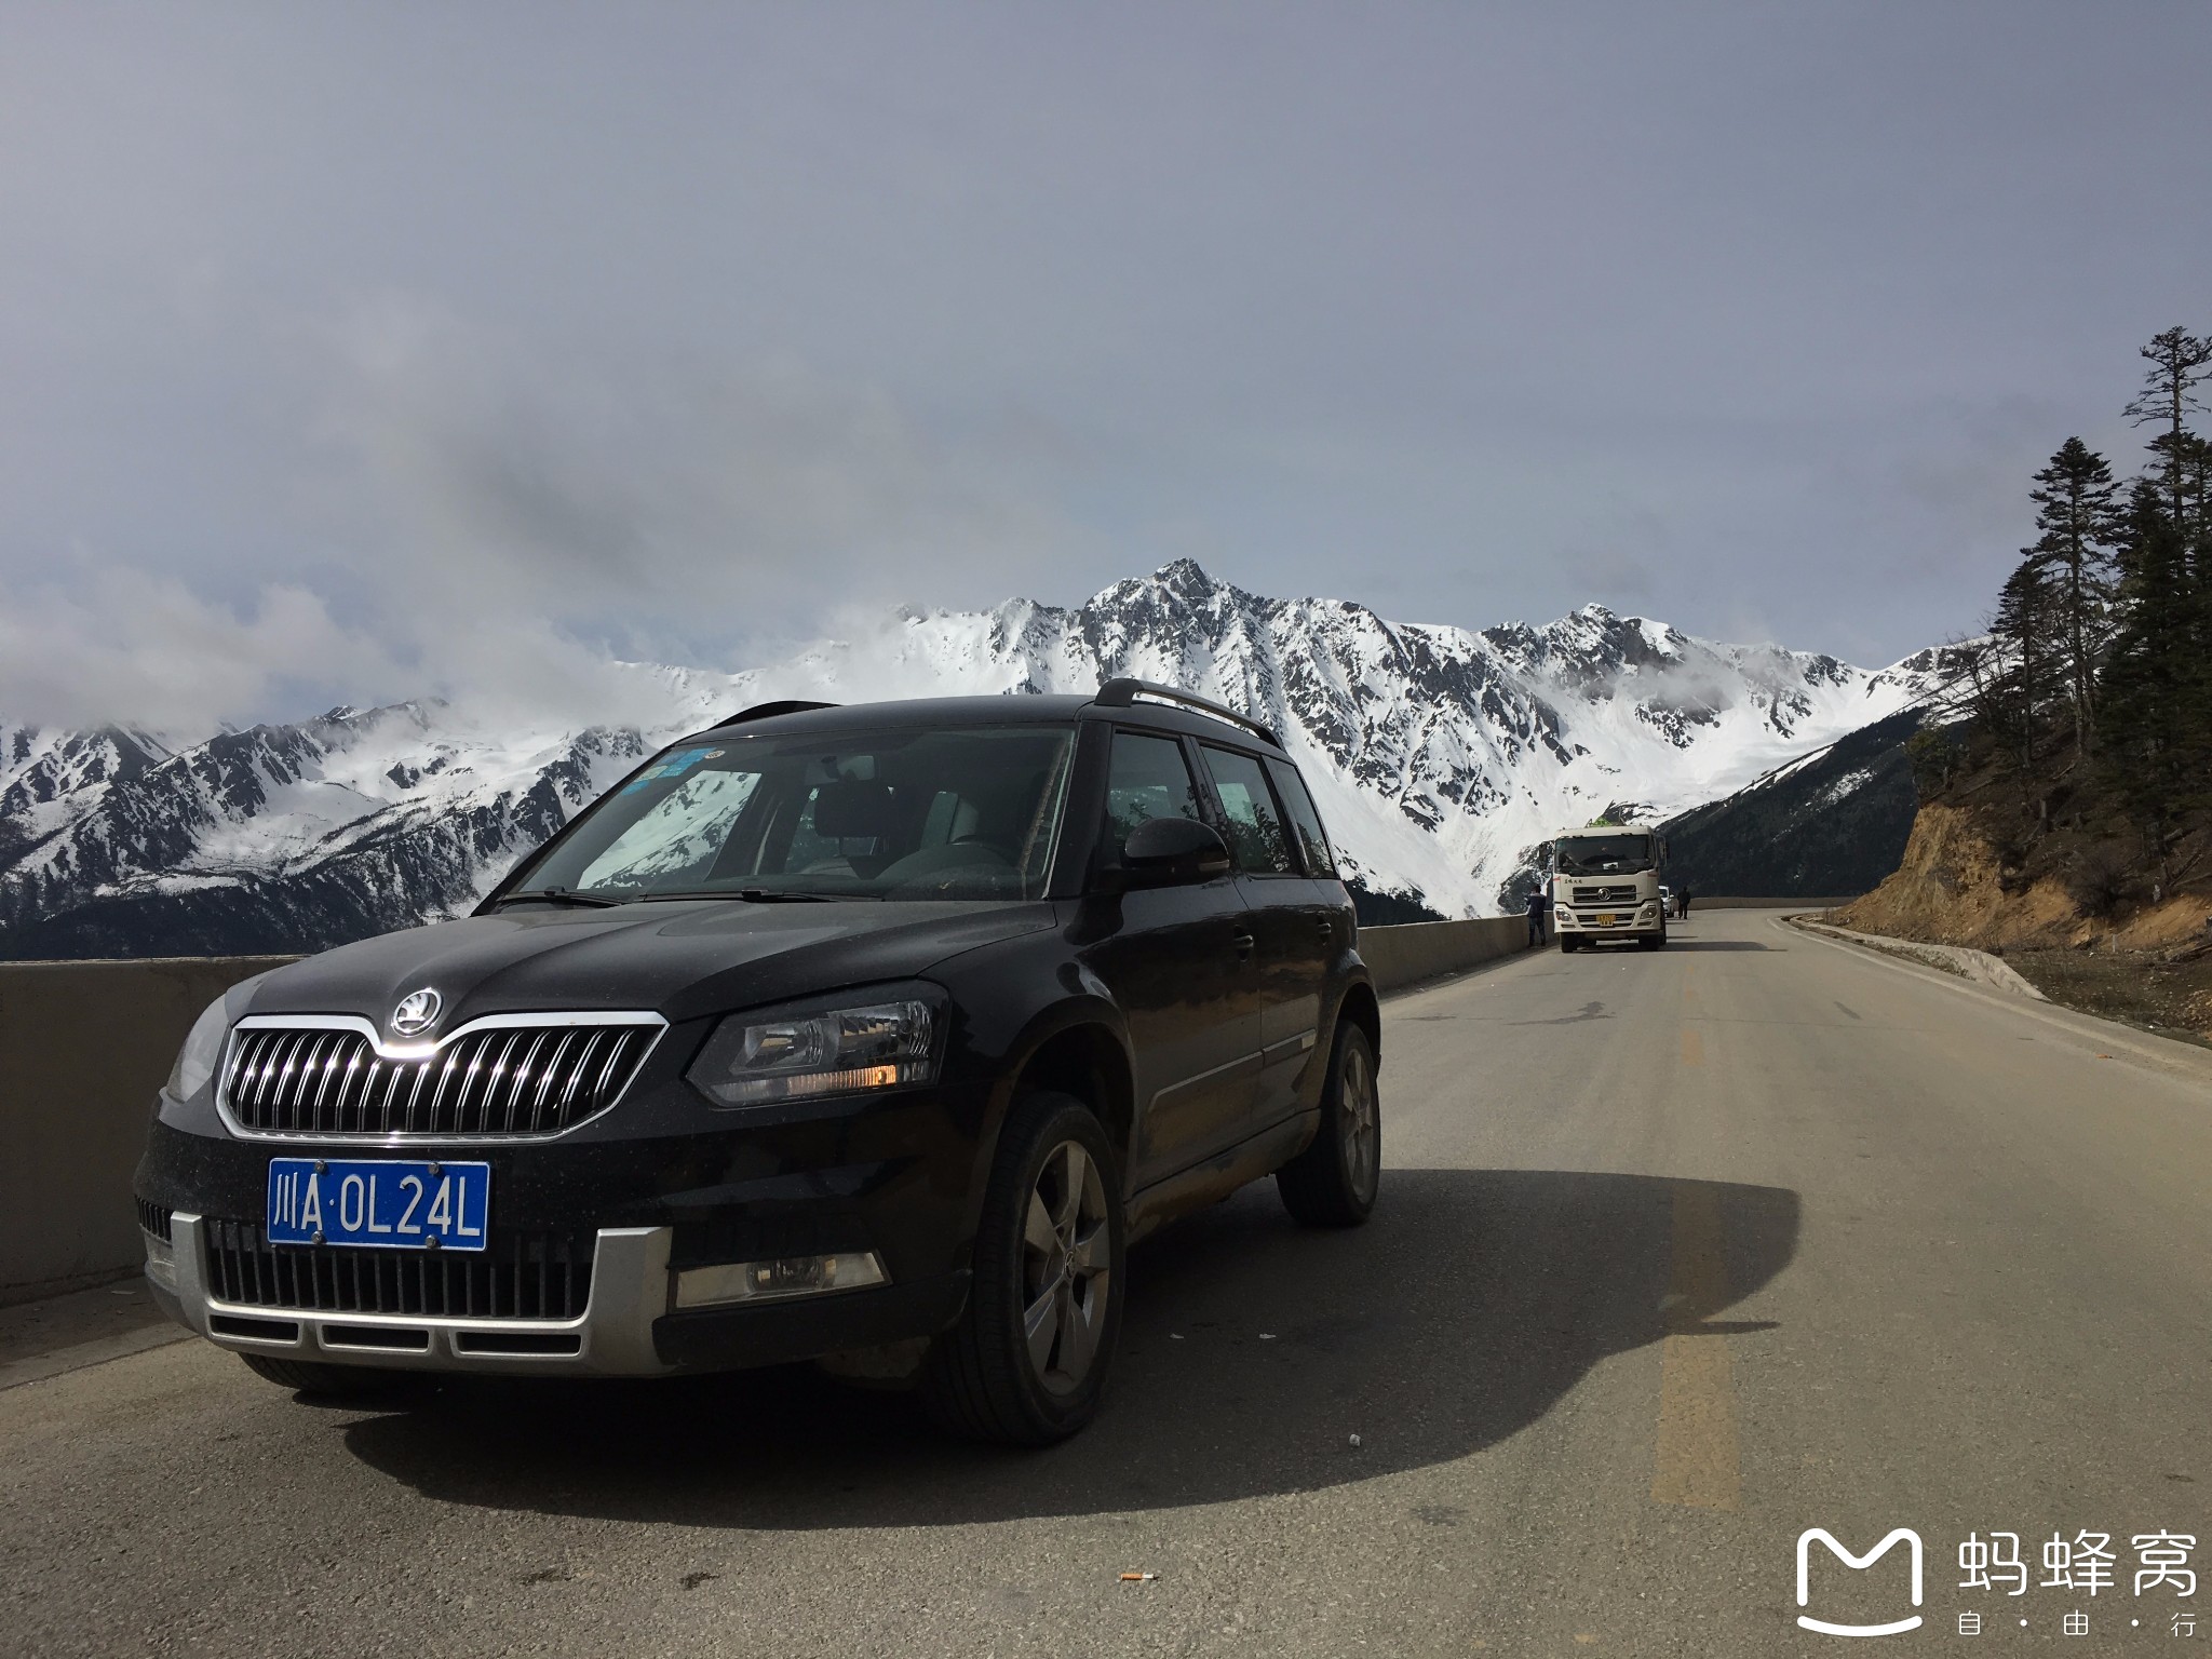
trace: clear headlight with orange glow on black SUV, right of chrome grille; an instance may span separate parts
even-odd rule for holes
[[[938,1011],[920,998],[823,1013],[734,1013],[714,1026],[690,1082],[723,1106],[858,1095],[936,1079]]]

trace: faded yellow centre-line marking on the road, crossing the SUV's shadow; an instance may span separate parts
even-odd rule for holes
[[[1690,1035],[1683,1033],[1686,1040]],[[1659,1345],[1655,1504],[1739,1506],[1743,1469],[1736,1451],[1736,1389],[1728,1338],[1701,1332],[1701,1323],[1725,1303],[1728,1259],[1721,1254],[1719,1188],[1677,1181],[1668,1336]]]

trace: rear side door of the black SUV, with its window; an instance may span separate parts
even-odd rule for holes
[[[1261,1130],[1298,1110],[1298,1079],[1321,1031],[1332,911],[1305,876],[1296,832],[1261,757],[1219,743],[1199,748],[1221,803],[1230,869],[1245,896],[1245,929],[1256,942],[1261,1071],[1250,1130]]]

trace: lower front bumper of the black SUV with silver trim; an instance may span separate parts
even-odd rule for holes
[[[186,1329],[234,1354],[396,1371],[670,1376],[876,1349],[933,1336],[967,1303],[967,1274],[672,1314],[672,1228],[602,1228],[591,1296],[575,1318],[365,1314],[223,1301],[208,1283],[208,1228],[175,1214],[146,1237],[146,1285]]]

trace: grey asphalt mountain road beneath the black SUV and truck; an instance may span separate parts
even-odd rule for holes
[[[2212,1053],[1717,911],[1394,1000],[1383,1091],[1374,1223],[1267,1186],[1139,1250],[1048,1453],[807,1374],[380,1413],[177,1343],[0,1391],[0,1650],[1818,1652],[1798,1533],[1911,1526],[1920,1608],[1898,1548],[1812,1613],[2188,1652],[2212,1586],[2135,1595],[2132,1537],[2212,1566]],[[2020,1597],[1958,1586],[1993,1531]],[[2117,1584],[2046,1588],[2053,1533]]]

